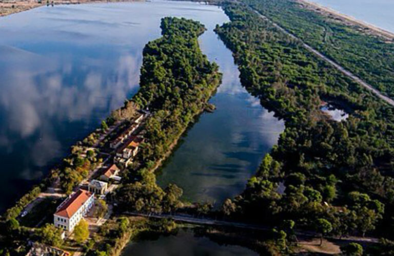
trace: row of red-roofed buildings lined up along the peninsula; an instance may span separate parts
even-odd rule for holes
[[[140,126],[144,114],[137,116],[133,123],[123,131],[115,140],[110,142],[111,148],[117,148],[114,164],[104,169],[98,179],[91,180],[87,189],[78,189],[64,200],[53,215],[55,227],[71,232],[74,227],[86,216],[94,205],[94,195],[103,195],[108,190],[108,182],[119,182],[121,169],[117,166],[127,166],[139,151],[142,136],[133,135]]]

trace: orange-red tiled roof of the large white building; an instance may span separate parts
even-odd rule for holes
[[[80,189],[76,191],[58,207],[55,215],[71,218],[92,195],[87,190]]]

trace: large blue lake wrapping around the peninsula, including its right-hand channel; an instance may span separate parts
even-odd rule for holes
[[[218,109],[191,127],[160,184],[175,182],[190,200],[242,191],[284,123],[241,87],[231,52],[212,31],[228,21],[224,12],[189,2],[61,5],[0,18],[1,209],[136,92],[142,49],[160,37],[164,16],[206,25],[201,48],[224,76],[211,99]]]

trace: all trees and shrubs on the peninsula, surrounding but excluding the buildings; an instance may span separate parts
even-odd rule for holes
[[[210,63],[199,48],[197,38],[205,31],[203,25],[184,18],[164,18],[161,28],[163,36],[149,42],[144,49],[140,91],[131,100],[126,100],[122,108],[113,111],[111,116],[102,122],[100,129],[72,146],[71,154],[51,171],[49,177],[7,211],[6,218],[0,224],[6,225],[8,220],[7,225],[9,224],[15,236],[7,236],[10,240],[0,241],[2,245],[5,244],[9,249],[17,248],[18,245],[26,244],[26,238],[53,246],[62,245],[61,229],[47,224],[34,229],[34,232],[25,232],[24,227],[13,225],[17,223],[15,218],[49,185],[60,184],[61,188],[70,194],[91,170],[102,163],[102,159],[97,159],[97,152],[92,150],[91,146],[97,145],[99,138],[103,137],[105,138],[98,145],[107,143],[113,136],[106,134],[109,125],[118,125],[115,132],[124,129],[139,109],[149,108],[152,113],[144,132],[146,143],[141,145],[143,152],[139,154],[139,159],[124,172],[124,184],[115,197],[119,202],[117,209],[171,212],[182,205],[179,200],[182,189],[173,184],[162,189],[156,184],[152,169],[171,152],[172,146],[187,126],[204,110],[208,99],[220,84],[221,74],[218,66]],[[96,215],[103,216],[106,208],[105,203],[98,201]],[[35,214],[30,217],[33,216]],[[103,231],[103,236],[108,234],[108,238],[101,237],[97,241],[99,245],[95,243],[95,238],[87,240],[84,243],[86,251],[96,255],[119,253],[130,236],[139,232],[139,228],[129,228],[131,224],[127,218],[117,219],[116,222],[119,223],[111,227],[110,234]],[[132,224],[133,227],[138,225],[144,223]],[[171,221],[157,222],[148,227],[156,232],[169,232],[174,228],[175,224]],[[74,238],[77,243],[83,243],[87,239],[86,230],[83,223],[75,228]],[[15,253],[15,250],[12,253]]]

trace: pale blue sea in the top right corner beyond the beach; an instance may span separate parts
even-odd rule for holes
[[[393,0],[311,0],[394,33]]]

